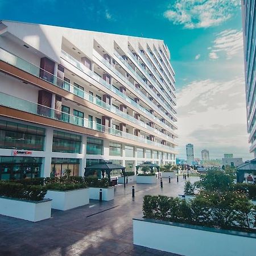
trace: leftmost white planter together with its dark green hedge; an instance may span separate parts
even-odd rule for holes
[[[51,217],[50,199],[44,199],[47,188],[43,185],[18,181],[0,181],[0,214],[28,221]]]

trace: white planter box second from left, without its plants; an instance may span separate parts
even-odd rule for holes
[[[68,191],[48,190],[46,197],[52,199],[52,209],[69,210],[89,204],[89,188]]]

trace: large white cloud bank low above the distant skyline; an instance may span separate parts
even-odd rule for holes
[[[247,143],[243,78],[191,82],[177,92],[177,118],[181,158],[187,143],[194,144],[196,157],[204,148],[211,158],[221,158],[225,152],[253,157]]]

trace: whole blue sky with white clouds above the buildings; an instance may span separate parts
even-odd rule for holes
[[[179,158],[251,159],[240,0],[0,0],[2,19],[163,39],[176,72]],[[22,10],[22,11],[21,11]]]

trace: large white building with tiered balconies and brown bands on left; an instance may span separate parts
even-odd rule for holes
[[[2,20],[0,179],[175,163],[174,76],[163,40]]]

